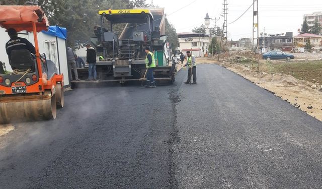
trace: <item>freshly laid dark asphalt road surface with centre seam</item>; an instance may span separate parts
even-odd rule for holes
[[[75,89],[0,137],[0,188],[321,188],[322,123],[217,65]]]

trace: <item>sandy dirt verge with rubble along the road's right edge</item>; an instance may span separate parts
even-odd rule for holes
[[[245,53],[245,52],[243,52]],[[315,60],[318,64],[322,64],[320,57],[322,54],[313,53],[293,53],[295,57],[300,54],[303,60]],[[307,56],[305,54],[308,54]],[[238,53],[232,56],[239,56]],[[241,54],[242,59],[248,59],[252,57],[252,54],[246,53]],[[255,56],[256,57],[256,56]],[[246,61],[249,63],[249,61]],[[277,60],[278,64],[280,63]],[[295,107],[301,109],[302,111],[308,113],[309,115],[322,121],[322,72],[320,70],[315,72],[314,76],[310,76],[310,81],[303,79],[296,79],[295,77],[289,75],[294,73],[278,73],[278,70],[267,70],[267,72],[256,72],[256,69],[251,69],[251,66],[239,64],[232,60],[231,56],[228,58],[220,58],[217,62],[217,57],[213,58],[197,58],[197,64],[218,64],[228,70],[246,78],[247,80],[253,82],[254,84],[271,91],[276,96],[279,96],[283,100],[291,103]],[[261,64],[265,64],[265,60],[261,60]],[[273,61],[274,64],[274,61]],[[289,63],[285,63],[289,64]],[[320,65],[319,65],[320,66]],[[305,68],[305,67],[304,67]],[[319,67],[321,68],[321,67]],[[269,73],[268,73],[269,72]],[[308,74],[307,72],[303,71]],[[321,72],[321,73],[320,73]],[[318,74],[316,74],[318,73]],[[315,79],[312,79],[315,78]]]

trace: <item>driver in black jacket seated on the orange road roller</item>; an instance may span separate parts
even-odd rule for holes
[[[11,51],[12,50],[24,50],[27,49],[31,53],[36,54],[34,45],[31,44],[27,39],[18,37],[18,33],[14,28],[7,30],[10,40],[6,43],[6,51],[9,58],[9,64],[11,65]]]

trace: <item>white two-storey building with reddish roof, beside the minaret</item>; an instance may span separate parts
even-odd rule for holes
[[[178,49],[184,54],[189,50],[198,57],[208,54],[210,37],[204,33],[177,33],[179,40]]]

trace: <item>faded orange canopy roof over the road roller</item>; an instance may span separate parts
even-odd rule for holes
[[[39,6],[0,6],[0,26],[17,31],[33,31],[36,23],[37,32],[47,30],[48,19]]]

